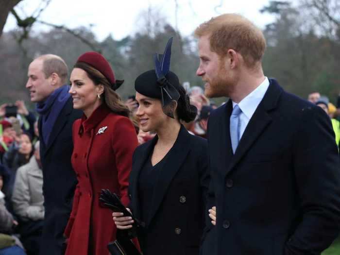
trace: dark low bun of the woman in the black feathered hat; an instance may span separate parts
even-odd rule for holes
[[[177,89],[180,94],[176,109],[178,119],[185,122],[190,122],[196,118],[197,108],[195,105],[190,104],[189,96],[187,95],[183,86],[179,85]]]

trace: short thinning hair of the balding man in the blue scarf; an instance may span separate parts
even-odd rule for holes
[[[65,61],[53,54],[41,55],[37,59],[42,60],[42,71],[45,74],[45,78],[49,78],[52,73],[58,74],[61,83],[64,85],[68,80],[68,66]]]

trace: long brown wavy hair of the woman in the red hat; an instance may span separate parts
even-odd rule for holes
[[[77,62],[73,68],[83,69],[95,85],[101,84],[104,86],[102,101],[112,112],[129,117],[129,108],[121,101],[117,92],[111,88],[111,84],[100,71],[84,62]]]

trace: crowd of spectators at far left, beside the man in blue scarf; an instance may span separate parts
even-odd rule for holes
[[[35,113],[23,101],[0,105],[0,254],[39,252],[44,218]]]

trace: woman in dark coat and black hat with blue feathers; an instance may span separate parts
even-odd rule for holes
[[[171,39],[165,58],[170,44]],[[195,119],[197,109],[167,63],[170,59],[157,59],[155,70],[135,82],[140,128],[157,135],[134,153],[129,209],[145,226],[137,230],[144,255],[198,255],[209,181],[207,143],[180,124]],[[132,227],[128,217],[113,216],[118,229]]]

